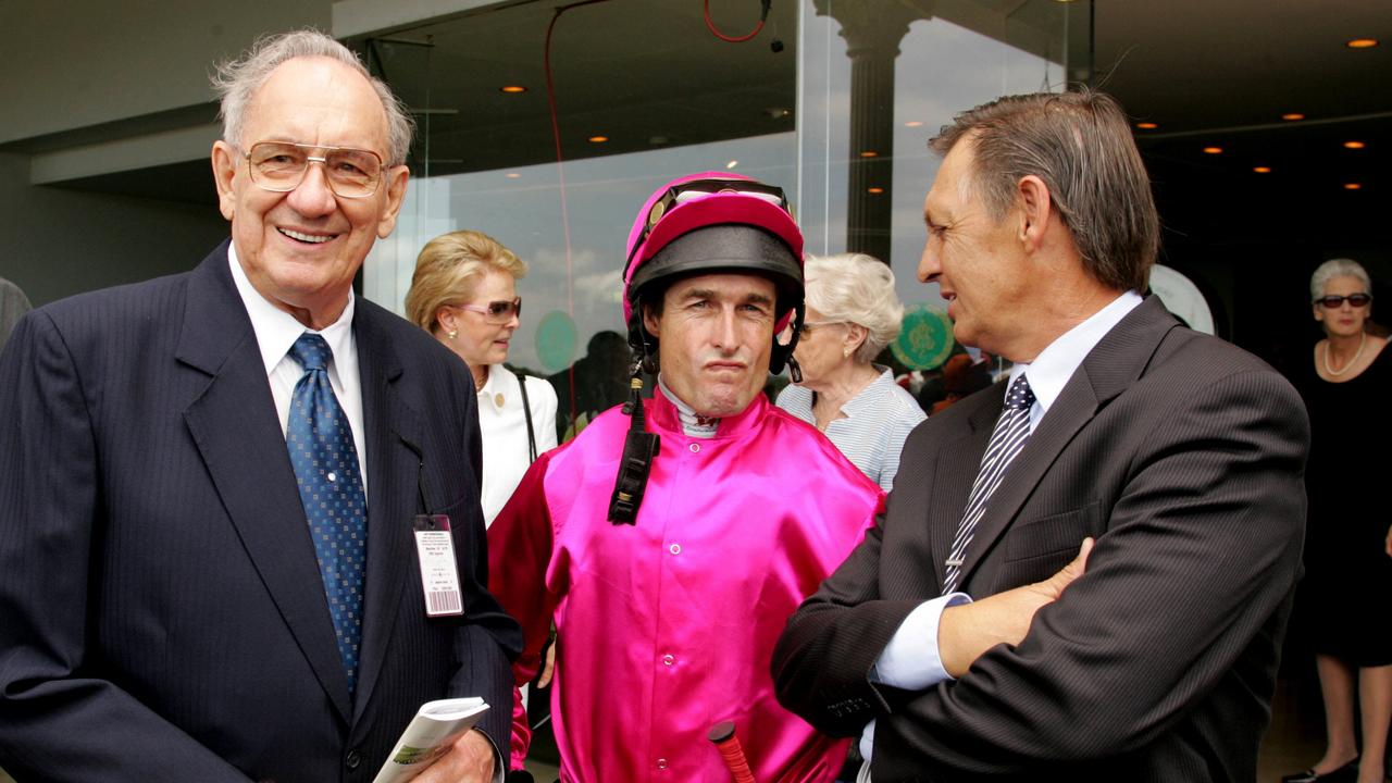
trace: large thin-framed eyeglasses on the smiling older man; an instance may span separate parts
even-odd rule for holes
[[[310,155],[315,150],[320,155]],[[310,163],[324,164],[329,189],[337,196],[367,198],[381,184],[381,156],[370,149],[259,141],[245,156],[252,183],[277,194],[298,188]]]

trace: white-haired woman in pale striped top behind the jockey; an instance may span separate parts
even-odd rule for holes
[[[919,403],[871,364],[899,336],[903,304],[889,266],[864,254],[807,256],[807,318],[793,357],[802,383],[778,407],[813,424],[887,492],[903,439],[926,418]]]

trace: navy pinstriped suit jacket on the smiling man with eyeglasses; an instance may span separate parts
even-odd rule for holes
[[[486,591],[464,362],[354,316],[367,451],[356,698],[227,245],[21,320],[0,357],[0,766],[19,780],[370,780],[416,708],[482,695],[508,748],[515,623]],[[454,521],[425,617],[412,517]]]

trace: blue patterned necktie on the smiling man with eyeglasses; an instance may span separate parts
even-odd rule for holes
[[[362,639],[362,585],[367,553],[367,502],[362,493],[358,449],[348,417],[329,385],[329,343],[305,332],[290,348],[305,369],[290,403],[285,446],[299,483],[309,534],[315,539],[319,574],[324,578],[329,614],[338,653],[348,672],[348,692],[358,683]]]

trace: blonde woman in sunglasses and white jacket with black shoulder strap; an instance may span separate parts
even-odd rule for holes
[[[434,334],[473,372],[487,525],[532,460],[555,447],[555,390],[540,378],[503,366],[522,316],[516,281],[525,274],[526,263],[493,237],[451,231],[422,248],[406,293],[406,318]]]

